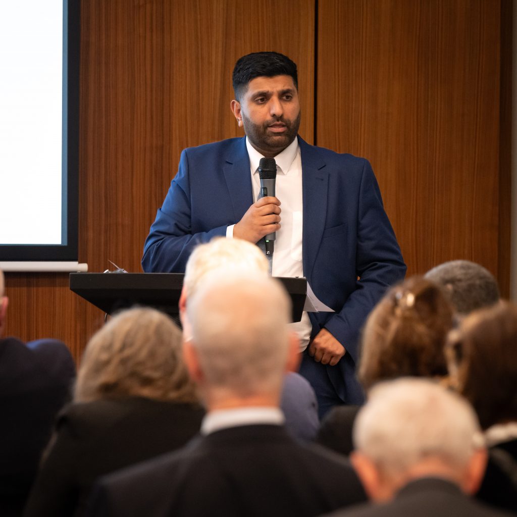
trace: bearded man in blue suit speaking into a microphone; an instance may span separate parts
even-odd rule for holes
[[[320,415],[363,400],[355,376],[360,328],[406,267],[367,160],[298,135],[296,65],[276,52],[241,57],[231,103],[246,138],[185,149],[144,247],[144,271],[183,272],[214,236],[257,242],[276,232],[273,276],[307,278],[335,312],[304,313],[300,373]],[[257,200],[258,163],[274,157],[276,197]]]

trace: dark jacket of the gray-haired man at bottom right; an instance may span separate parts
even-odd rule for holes
[[[366,504],[327,517],[510,517],[465,495],[455,484],[438,478],[408,483],[386,504]]]

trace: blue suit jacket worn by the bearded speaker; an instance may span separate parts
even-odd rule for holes
[[[343,401],[360,403],[359,331],[386,288],[405,275],[397,239],[370,163],[298,137],[303,188],[303,273],[336,313],[310,313],[346,348],[328,367]],[[144,271],[184,272],[194,247],[237,223],[253,203],[245,138],[185,149],[145,241]],[[358,280],[360,277],[360,280]]]

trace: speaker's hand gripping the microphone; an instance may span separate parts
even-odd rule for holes
[[[255,244],[280,228],[280,212],[280,201],[276,197],[263,197],[251,205],[234,226],[233,236]]]

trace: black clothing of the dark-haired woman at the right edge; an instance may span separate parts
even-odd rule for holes
[[[496,456],[497,452],[503,452],[505,456]],[[513,481],[510,476],[513,476]],[[517,514],[516,480],[517,439],[514,439],[489,449],[486,472],[476,498]]]

